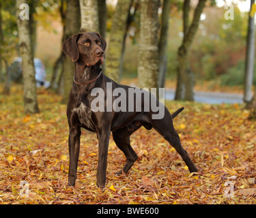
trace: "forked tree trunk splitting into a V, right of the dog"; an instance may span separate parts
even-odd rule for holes
[[[203,12],[203,7],[205,6],[206,0],[201,0],[197,4],[197,8],[195,10],[195,14],[193,17],[193,21],[188,27],[188,16],[190,11],[190,0],[184,1],[184,7],[183,7],[183,22],[184,22],[184,38],[182,41],[182,45],[178,49],[177,54],[177,60],[178,60],[178,67],[177,67],[177,74],[180,76],[180,80],[178,82],[181,82],[184,84],[177,84],[177,87],[180,89],[176,90],[175,99],[184,99],[187,101],[194,101],[194,74],[191,72],[189,63],[188,63],[188,50],[193,42],[193,39],[195,37],[195,33],[197,32],[198,26],[199,26],[199,20],[201,17],[201,13]],[[179,78],[178,76],[178,78]],[[181,91],[184,87],[184,97],[181,93],[178,93],[178,91]],[[182,91],[183,92],[183,91]]]

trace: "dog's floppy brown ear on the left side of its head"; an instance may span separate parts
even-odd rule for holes
[[[81,34],[74,34],[62,44],[63,52],[68,55],[68,57],[70,57],[73,62],[79,59],[79,48],[77,46],[77,40],[79,39],[80,35]]]

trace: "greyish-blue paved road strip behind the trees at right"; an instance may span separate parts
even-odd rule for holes
[[[173,100],[175,97],[174,89],[165,89],[165,99]],[[233,93],[218,93],[218,92],[201,92],[195,91],[195,102],[208,104],[242,104],[243,95]]]

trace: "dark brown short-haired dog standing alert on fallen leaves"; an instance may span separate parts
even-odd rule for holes
[[[98,186],[104,187],[106,183],[106,163],[111,131],[115,144],[126,155],[126,164],[118,172],[118,174],[122,174],[122,171],[124,173],[128,172],[138,158],[130,146],[130,135],[142,125],[146,129],[154,127],[181,155],[190,172],[197,172],[197,168],[180,143],[180,138],[173,127],[169,110],[158,102],[151,93],[117,84],[102,74],[100,65],[104,62],[105,48],[106,42],[98,33],[79,33],[72,35],[72,37],[63,42],[63,51],[72,59],[75,65],[74,82],[67,108],[70,127],[68,138],[70,152],[68,183],[74,186],[76,181],[81,127],[96,132],[98,136]],[[135,94],[133,93],[134,95],[129,95],[123,101],[123,99],[120,100],[120,95],[114,94],[114,91],[109,97],[107,93],[110,89],[111,91],[118,91],[122,96],[130,94],[131,91],[136,94],[136,91],[139,90],[144,99],[140,99],[141,101],[138,101],[137,98],[134,99]],[[98,95],[95,95],[95,93],[98,93]],[[100,94],[103,96],[101,99],[99,98]],[[130,96],[133,97],[132,100]],[[145,96],[148,98],[145,98]],[[96,100],[101,105],[98,108],[96,108],[97,104],[94,104]],[[109,108],[109,102],[117,103],[117,100],[120,100],[119,103],[122,102],[122,104],[116,104],[115,106],[113,104]],[[156,110],[148,108],[154,101],[158,106],[162,106],[162,117],[160,119],[154,119],[154,115],[157,115]],[[123,110],[114,110],[118,107]],[[137,110],[138,108],[141,110]],[[173,114],[173,118],[182,110],[183,108],[177,110]]]

